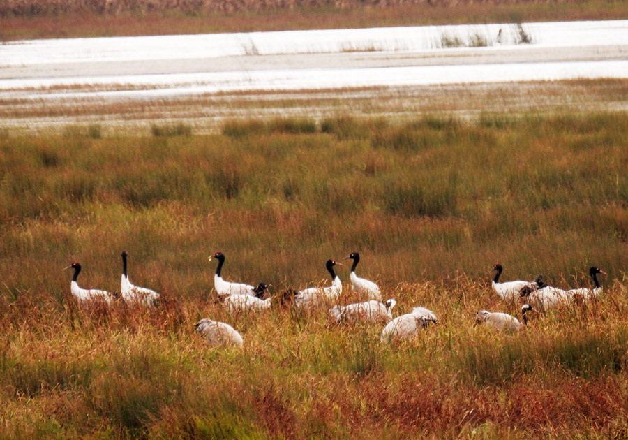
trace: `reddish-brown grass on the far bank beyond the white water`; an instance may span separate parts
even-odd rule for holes
[[[0,39],[623,19],[622,1],[9,0]]]

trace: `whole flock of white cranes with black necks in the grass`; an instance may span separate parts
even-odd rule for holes
[[[121,297],[126,302],[157,305],[160,294],[149,288],[134,286],[128,279],[128,254],[126,251],[122,252],[121,258]],[[236,314],[242,311],[258,312],[271,307],[270,296],[263,299],[264,296],[266,296],[267,284],[260,283],[257,286],[251,286],[244,283],[225,281],[222,275],[225,255],[222,252],[216,252],[216,254],[209,256],[209,261],[214,259],[218,261],[216,273],[214,274],[214,288],[218,294],[218,298],[222,300],[230,313]],[[360,261],[359,254],[352,252],[352,254],[345,259],[353,261],[350,272],[350,281],[353,291],[363,298],[368,298],[368,300],[349,305],[338,304],[338,300],[343,291],[343,284],[336,274],[334,267],[342,264],[330,259],[325,263],[325,267],[331,276],[331,286],[310,287],[301,291],[293,291],[290,289],[283,293],[283,298],[281,298],[282,302],[290,302],[299,311],[306,312],[312,309],[333,305],[329,309],[328,314],[330,320],[335,323],[354,323],[359,321],[383,323],[385,326],[380,337],[382,342],[412,337],[428,325],[438,323],[438,318],[434,312],[424,307],[414,307],[411,313],[393,318],[392,309],[396,305],[396,300],[390,298],[383,301],[382,291],[377,284],[368,279],[360,278],[355,274],[356,267]],[[77,284],[77,278],[81,272],[81,265],[75,262],[66,267],[66,269],[70,268],[75,271],[72,281],[70,282],[70,292],[79,302],[103,300],[110,303],[112,301],[114,295],[110,292],[98,289],[80,288]],[[514,302],[519,298],[525,299],[525,304],[521,307],[523,323],[518,321],[516,317],[506,313],[480,310],[475,315],[476,325],[488,325],[498,330],[522,330],[528,324],[526,314],[533,308],[545,311],[575,301],[587,302],[597,297],[601,292],[601,284],[597,279],[597,275],[606,274],[606,272],[600,270],[599,267],[591,267],[589,274],[594,284],[593,288],[574,288],[565,291],[560,288],[546,286],[542,276],[537,277],[534,281],[518,280],[500,282],[503,269],[500,264],[493,265],[491,272],[495,272],[495,277],[493,278],[491,286],[493,291],[507,302]],[[204,318],[197,323],[195,329],[203,335],[208,344],[213,346],[242,346],[243,344],[243,339],[239,332],[227,323]]]

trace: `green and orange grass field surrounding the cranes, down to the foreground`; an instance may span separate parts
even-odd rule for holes
[[[627,128],[624,112],[564,112],[8,130],[0,437],[625,438]],[[117,291],[123,249],[160,307],[78,307],[63,267]],[[395,315],[423,305],[440,324],[388,346],[324,310],[229,316],[217,250],[226,279],[274,294],[329,284],[324,261],[360,251]],[[562,287],[598,265],[604,295],[516,335],[474,328],[478,309],[517,312],[490,291],[498,261],[504,279]],[[244,349],[205,346],[202,317]]]

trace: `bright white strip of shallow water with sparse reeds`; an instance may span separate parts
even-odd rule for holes
[[[532,43],[518,41],[521,29]],[[478,43],[482,46],[470,47]],[[0,98],[9,99],[141,99],[575,78],[628,78],[628,20],[0,45]]]

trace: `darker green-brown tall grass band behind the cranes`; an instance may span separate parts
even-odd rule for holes
[[[152,265],[148,281],[184,295],[209,290],[204,257],[218,249],[225,274],[278,289],[324,278],[327,258],[353,250],[388,286],[484,277],[495,261],[507,277],[586,282],[592,264],[621,277],[627,119],[499,118],[0,140],[3,279],[61,291],[57,268],[80,259],[82,279],[115,290],[105,279],[124,248],[136,270]]]

